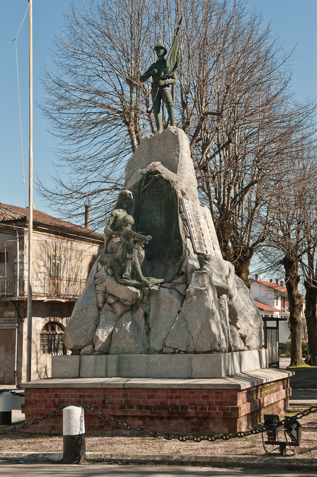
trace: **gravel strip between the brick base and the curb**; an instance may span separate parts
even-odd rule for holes
[[[292,405],[294,415],[308,406]],[[280,415],[283,419],[285,415]],[[300,420],[302,424],[302,439],[300,447],[296,447],[298,457],[317,457],[317,414],[310,414]],[[8,427],[9,428],[9,427]],[[1,428],[1,431],[4,428]],[[283,436],[283,438],[282,438]],[[279,438],[284,439],[284,434]],[[273,446],[268,446],[273,447]],[[0,436],[0,452],[62,452],[63,438],[60,435],[48,434],[7,434]],[[166,441],[162,437],[138,436],[86,436],[87,452],[124,452],[137,454],[231,454],[231,455],[263,455],[261,435],[235,438],[230,441],[215,441],[194,443],[178,440]],[[275,451],[277,452],[277,451]],[[287,455],[291,455],[288,451]]]

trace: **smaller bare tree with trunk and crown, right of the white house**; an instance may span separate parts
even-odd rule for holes
[[[261,251],[267,268],[282,266],[285,270],[285,286],[289,301],[291,364],[302,364],[302,295],[298,290],[300,263],[307,253],[303,245],[307,241],[305,215],[307,210],[316,209],[312,194],[316,174],[315,164],[309,151],[310,138],[297,138],[292,154],[281,157],[276,174],[280,186],[272,199],[267,249]]]

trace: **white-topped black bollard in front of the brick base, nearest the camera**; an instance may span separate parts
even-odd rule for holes
[[[82,407],[63,409],[63,464],[79,464],[86,452]]]

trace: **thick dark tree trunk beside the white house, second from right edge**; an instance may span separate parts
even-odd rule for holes
[[[289,302],[289,321],[291,324],[291,366],[304,364],[302,358],[302,297],[298,291],[299,275],[298,261],[284,257],[282,264],[285,269],[285,286]]]

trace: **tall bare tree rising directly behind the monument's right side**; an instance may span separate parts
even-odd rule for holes
[[[250,261],[265,242],[272,191],[279,184],[276,165],[294,134],[307,127],[311,105],[307,109],[292,100],[292,52],[283,51],[256,10],[250,14],[237,5],[226,24],[230,28],[221,29],[208,50],[207,67],[197,72],[200,81],[193,84],[189,72],[192,83],[183,79],[184,90],[195,97],[185,98],[182,124],[223,257],[249,287]]]

